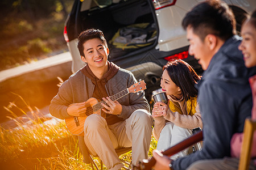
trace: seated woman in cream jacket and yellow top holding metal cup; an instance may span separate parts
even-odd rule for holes
[[[160,84],[163,93],[153,96],[156,101],[152,109],[157,150],[167,150],[192,135],[192,129],[203,128],[195,88],[200,79],[195,70],[181,59],[172,60],[163,67]],[[165,103],[163,95],[168,98]],[[187,154],[188,148],[171,159]]]

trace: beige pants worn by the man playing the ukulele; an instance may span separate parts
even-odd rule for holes
[[[115,149],[132,147],[133,164],[147,159],[151,142],[152,117],[149,112],[138,109],[125,121],[107,125],[98,114],[88,116],[84,124],[84,141],[92,155],[98,155],[108,169],[120,169]]]

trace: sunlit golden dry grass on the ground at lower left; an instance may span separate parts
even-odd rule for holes
[[[39,109],[27,105],[30,112],[24,114],[30,114],[28,125],[10,110],[12,107],[17,106],[10,103],[6,109],[13,114],[11,119],[17,127],[0,126],[1,169],[91,169],[82,162],[77,137],[68,132],[64,121],[46,121],[48,118],[42,117]],[[149,156],[155,147],[156,141],[152,138]],[[131,152],[121,156],[130,162]],[[99,160],[94,159],[100,166]]]

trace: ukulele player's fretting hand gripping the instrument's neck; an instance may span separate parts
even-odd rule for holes
[[[104,107],[102,111],[108,114],[121,114],[122,105],[118,103],[118,101],[113,101],[109,97],[106,97],[106,98],[103,97],[102,99],[106,102],[106,104],[108,104],[106,105],[104,103],[101,103],[101,105]]]

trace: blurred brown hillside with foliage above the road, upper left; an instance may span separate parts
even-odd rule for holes
[[[73,0],[1,0],[0,71],[67,51],[64,23]]]

